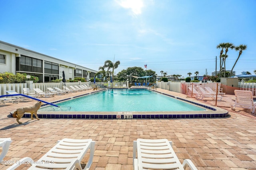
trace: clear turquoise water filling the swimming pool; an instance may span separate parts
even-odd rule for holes
[[[146,89],[108,89],[47,106],[39,111],[204,111]]]

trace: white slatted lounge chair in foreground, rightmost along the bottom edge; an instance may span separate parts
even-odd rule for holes
[[[172,149],[172,142],[167,139],[137,139],[137,141],[133,141],[133,166],[134,170],[184,170],[187,166],[192,170],[197,170],[196,166],[189,159],[185,159],[183,164],[180,163]]]

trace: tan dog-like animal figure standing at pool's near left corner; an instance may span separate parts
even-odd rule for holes
[[[20,107],[18,108],[16,111],[14,111],[13,113],[13,117],[17,118],[16,121],[19,124],[22,124],[22,122],[20,122],[19,120],[22,118],[22,116],[24,115],[25,112],[27,113],[31,113],[31,119],[33,118],[33,114],[35,114],[36,119],[40,120],[37,116],[37,110],[41,107],[42,102],[37,102],[36,104],[34,104],[33,106],[27,106],[27,107]]]

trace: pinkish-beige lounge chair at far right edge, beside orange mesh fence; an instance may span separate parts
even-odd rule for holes
[[[234,90],[236,100],[231,109],[235,107],[242,107],[244,109],[250,109],[252,113],[255,111],[256,102],[253,101],[252,92],[248,90]]]

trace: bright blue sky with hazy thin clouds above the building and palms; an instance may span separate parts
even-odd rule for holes
[[[104,61],[161,76],[211,75],[220,43],[247,45],[256,70],[256,0],[0,0],[0,41],[98,71]],[[226,70],[239,52],[229,50]],[[144,65],[147,64],[147,68]]]

